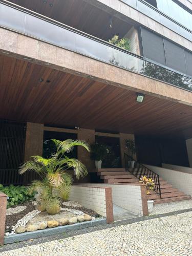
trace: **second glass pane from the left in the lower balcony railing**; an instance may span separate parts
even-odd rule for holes
[[[32,15],[26,16],[25,33],[70,50],[75,49],[74,32]]]

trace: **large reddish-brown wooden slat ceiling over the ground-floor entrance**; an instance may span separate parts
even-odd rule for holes
[[[43,82],[38,79],[43,78]],[[50,80],[50,82],[47,82]],[[0,118],[192,137],[192,107],[0,55]]]

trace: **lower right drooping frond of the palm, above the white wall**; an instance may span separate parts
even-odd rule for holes
[[[68,165],[68,167],[74,169],[74,174],[77,179],[79,179],[80,177],[84,177],[88,174],[86,166],[83,163],[81,163],[78,159],[68,157],[66,157],[66,159],[66,164]]]

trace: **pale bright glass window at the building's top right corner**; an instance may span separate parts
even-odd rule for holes
[[[174,0],[145,0],[169,17],[192,30],[192,14],[182,8]]]

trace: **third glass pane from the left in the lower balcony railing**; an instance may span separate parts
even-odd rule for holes
[[[113,63],[112,47],[79,34],[75,34],[75,51],[105,62]]]

